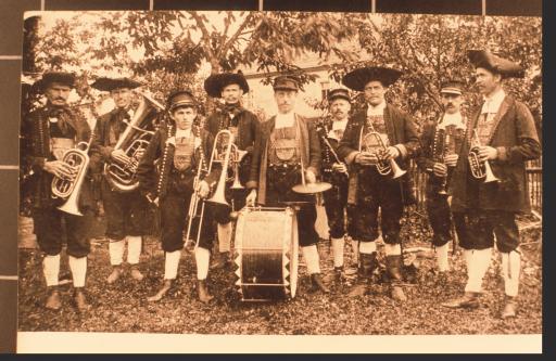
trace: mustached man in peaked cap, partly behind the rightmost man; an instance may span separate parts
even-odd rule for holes
[[[429,176],[426,185],[427,214],[432,227],[439,280],[444,281],[450,269],[448,242],[452,240],[452,215],[446,190],[466,127],[466,119],[460,113],[463,88],[464,83],[456,79],[442,83],[440,95],[444,113],[438,121],[425,125],[417,158],[419,168]]]

